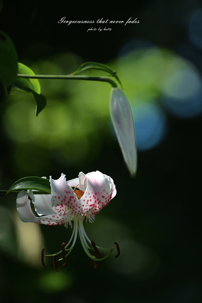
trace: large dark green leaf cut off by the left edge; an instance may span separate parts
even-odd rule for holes
[[[5,32],[0,31],[0,78],[8,87],[18,72],[18,55],[15,46]]]

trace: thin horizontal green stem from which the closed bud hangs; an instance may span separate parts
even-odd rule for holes
[[[65,80],[88,80],[88,81],[101,81],[108,82],[112,87],[117,87],[116,83],[105,77],[89,77],[89,76],[70,76],[70,75],[24,75],[17,74],[19,78],[29,78],[29,79],[65,79]]]

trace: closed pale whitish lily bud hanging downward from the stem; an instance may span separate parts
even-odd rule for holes
[[[131,176],[133,176],[137,171],[134,121],[130,104],[121,88],[111,89],[109,109],[124,160]]]

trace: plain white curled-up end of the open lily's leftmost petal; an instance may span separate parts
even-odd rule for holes
[[[23,222],[31,222],[36,219],[30,206],[30,200],[28,199],[28,193],[24,190],[20,191],[16,201],[17,211],[20,219]]]

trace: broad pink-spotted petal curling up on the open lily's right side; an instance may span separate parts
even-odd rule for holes
[[[88,185],[80,201],[84,205],[85,211],[93,209],[94,214],[96,214],[111,200],[111,181],[100,171],[93,171],[85,177],[88,180]]]

